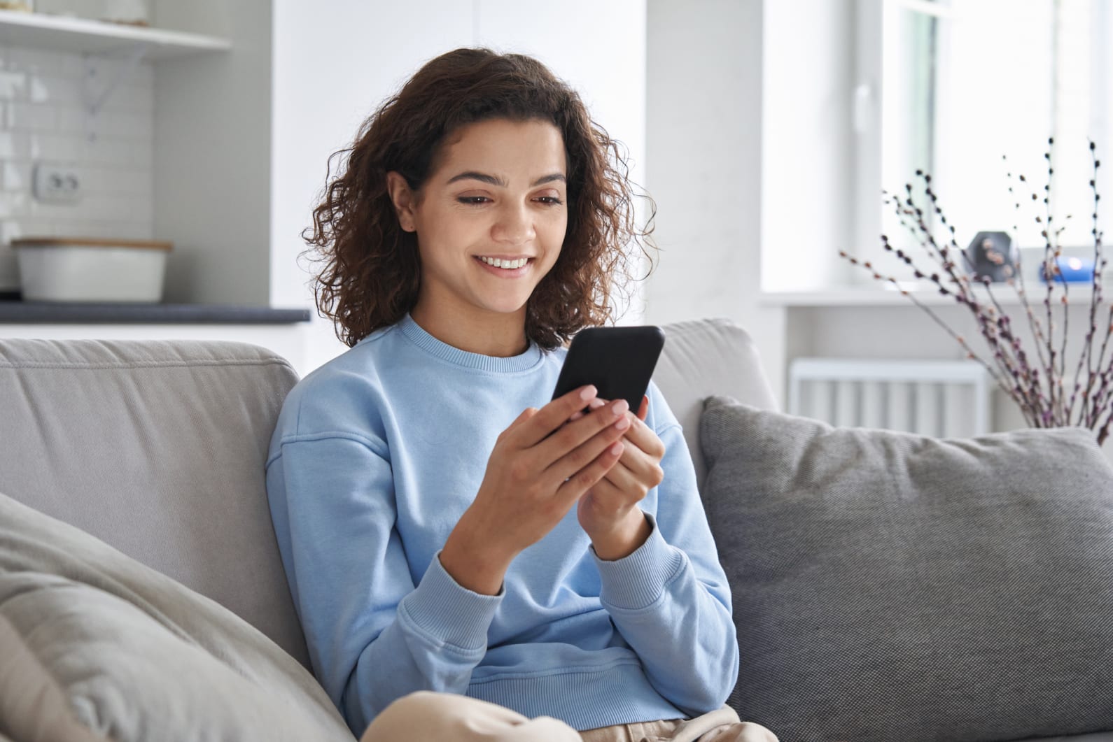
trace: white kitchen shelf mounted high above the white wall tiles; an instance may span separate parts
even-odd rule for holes
[[[76,53],[112,53],[142,47],[145,57],[156,60],[232,49],[227,39],[200,33],[18,10],[0,10],[0,43]]]

